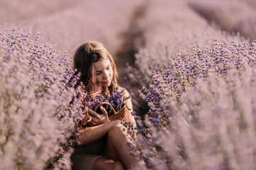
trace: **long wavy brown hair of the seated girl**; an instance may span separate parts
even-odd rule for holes
[[[110,93],[112,93],[117,85],[118,74],[114,60],[105,46],[101,42],[90,41],[80,45],[75,52],[73,69],[75,69],[75,74],[80,72],[80,82],[85,86],[87,95],[99,93],[101,91],[101,86],[97,83],[95,74],[93,74],[94,67],[92,67],[95,62],[101,60],[110,60],[113,69],[113,78],[108,89]]]

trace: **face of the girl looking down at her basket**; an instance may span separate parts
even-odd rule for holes
[[[110,60],[102,60],[93,64],[95,67],[95,77],[102,88],[110,86],[113,79],[113,69],[110,64]]]

